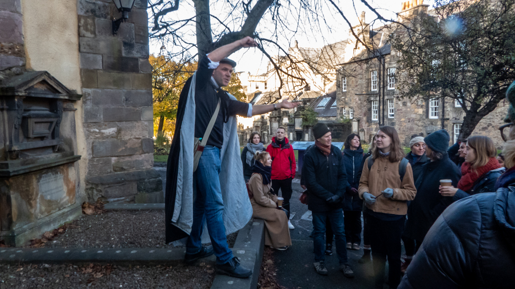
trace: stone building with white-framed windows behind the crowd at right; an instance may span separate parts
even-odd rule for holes
[[[423,4],[403,3],[402,8],[398,13],[399,21],[420,13],[431,13],[428,5]],[[365,23],[363,15],[362,25],[355,28],[373,49],[363,50],[340,65],[336,82],[338,116],[355,119],[358,133],[366,142],[370,142],[380,125],[395,127],[404,146],[408,145],[413,134],[426,136],[439,129],[447,130],[451,143],[455,142],[465,114],[459,102],[438,95],[427,101],[400,98],[396,87],[396,81],[399,81],[396,78],[399,53],[385,43],[391,33],[389,27],[372,29]],[[494,140],[497,147],[501,147],[503,141],[497,128],[503,124],[507,108],[507,103],[499,103],[492,113],[478,123],[472,135],[486,135]]]

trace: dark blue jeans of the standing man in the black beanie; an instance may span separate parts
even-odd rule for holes
[[[325,260],[324,249],[325,241],[323,236],[325,234],[325,221],[331,222],[333,233],[336,236],[336,254],[340,264],[347,264],[347,247],[345,240],[344,230],[344,215],[342,209],[336,209],[327,212],[313,212],[313,246],[315,251],[315,262]],[[329,243],[330,241],[328,241]]]

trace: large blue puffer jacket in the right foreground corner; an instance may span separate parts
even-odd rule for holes
[[[443,211],[409,264],[399,289],[515,286],[513,168],[503,177],[499,180],[505,182],[496,192],[475,194]]]

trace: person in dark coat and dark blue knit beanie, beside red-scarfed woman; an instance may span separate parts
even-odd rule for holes
[[[422,166],[422,172],[415,180],[417,195],[411,201],[404,230],[404,236],[416,241],[416,249],[438,216],[453,202],[452,197],[444,197],[439,193],[440,179],[450,179],[453,186],[456,186],[461,177],[447,154],[449,139],[445,130],[436,131],[424,138],[426,155],[431,162]]]

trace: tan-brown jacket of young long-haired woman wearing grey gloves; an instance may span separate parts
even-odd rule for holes
[[[363,198],[363,193],[365,192],[377,197],[373,205],[366,205],[370,210],[396,215],[405,215],[407,213],[408,206],[406,201],[411,201],[415,198],[417,189],[415,188],[413,171],[411,171],[409,163],[406,166],[406,173],[401,183],[399,163],[400,161],[390,162],[387,157],[379,157],[374,160],[374,164],[369,171],[367,166],[368,160],[365,160],[363,173],[361,179],[359,179],[358,194],[360,198]],[[380,196],[381,192],[386,188],[393,189],[392,197]]]

